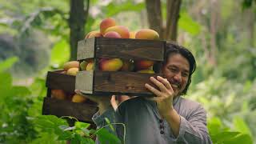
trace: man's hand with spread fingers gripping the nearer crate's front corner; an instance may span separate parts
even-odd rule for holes
[[[174,90],[172,89],[172,87],[170,86],[170,82],[168,82],[166,78],[162,78],[160,76],[158,76],[157,78],[150,77],[150,81],[158,86],[159,90],[146,83],[145,87],[157,96],[148,99],[157,102],[159,113],[162,115],[163,118],[166,118],[168,114],[170,114],[170,111],[174,110]]]

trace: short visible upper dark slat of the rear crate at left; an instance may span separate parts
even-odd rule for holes
[[[60,70],[49,71],[46,78],[46,87],[50,89],[62,89],[66,92],[74,92],[75,76],[60,74]]]

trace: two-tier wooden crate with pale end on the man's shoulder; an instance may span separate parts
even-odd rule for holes
[[[166,51],[165,41],[141,40],[130,38],[88,38],[78,42],[79,61],[94,58],[94,71],[79,71],[75,89],[85,94],[110,95],[125,94],[151,96],[145,83],[150,77],[156,77]],[[106,72],[98,70],[98,58],[122,58],[133,60],[151,60],[155,62],[156,74],[142,74],[127,71]],[[155,86],[156,87],[156,86]]]

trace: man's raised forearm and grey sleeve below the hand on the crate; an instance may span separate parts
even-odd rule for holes
[[[189,118],[183,118],[176,110],[166,116],[170,129],[177,142],[185,143],[212,143],[206,127],[206,110],[198,106]]]

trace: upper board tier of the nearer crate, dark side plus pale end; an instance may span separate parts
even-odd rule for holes
[[[95,42],[94,42],[95,41]],[[80,44],[79,44],[80,43]],[[165,41],[130,38],[89,38],[78,43],[78,60],[86,58],[125,58],[164,60]],[[94,43],[94,44],[93,44]],[[94,46],[93,46],[94,45]],[[92,50],[94,48],[94,51]],[[94,55],[93,55],[94,52]]]

